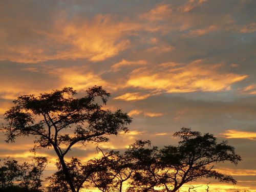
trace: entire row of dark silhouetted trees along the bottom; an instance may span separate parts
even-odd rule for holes
[[[201,134],[185,127],[174,134],[180,138],[175,146],[159,148],[151,146],[148,140],[137,140],[123,153],[97,147],[101,158],[86,163],[76,157],[67,161],[65,157],[75,144],[107,142],[108,135],[128,132],[127,124],[132,122],[121,110],[102,109],[110,93],[101,87],[89,88],[86,93],[82,98],[75,98],[76,91],[63,88],[38,97],[23,95],[14,100],[14,106],[5,113],[6,141],[14,142],[19,136],[36,136],[33,150],[53,148],[58,171],[45,178],[49,184],[44,188],[41,176],[47,164],[45,157],[21,165],[15,160],[6,160],[0,173],[2,191],[12,187],[9,191],[78,192],[81,188],[96,187],[103,192],[173,192],[201,178],[236,184],[231,176],[214,169],[215,163],[237,165],[241,161],[234,147],[227,141],[218,143],[212,134]],[[101,104],[96,102],[98,98]]]

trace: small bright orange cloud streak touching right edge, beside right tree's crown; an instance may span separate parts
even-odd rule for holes
[[[227,139],[256,139],[255,132],[245,132],[237,130],[226,130],[226,132],[222,133],[221,136]]]

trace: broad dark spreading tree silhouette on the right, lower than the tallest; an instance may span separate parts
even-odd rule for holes
[[[178,146],[168,145],[160,150],[142,146],[131,154],[142,166],[133,175],[127,191],[174,192],[183,184],[201,178],[236,184],[231,176],[214,169],[216,163],[228,161],[237,165],[241,161],[241,157],[227,141],[217,143],[217,138],[212,134],[201,134],[185,127],[174,136],[181,138]],[[144,161],[141,159],[143,154],[146,157]]]

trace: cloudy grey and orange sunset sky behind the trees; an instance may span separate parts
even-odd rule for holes
[[[218,170],[237,185],[212,180],[212,191],[256,191],[256,2],[0,2],[0,121],[19,95],[94,85],[111,93],[106,108],[133,122],[102,146],[123,150],[136,139],[177,144],[181,127],[228,140],[243,161]],[[33,138],[4,142],[0,158],[30,161]],[[51,150],[39,151],[52,164]],[[82,156],[81,156],[82,154]],[[95,146],[76,147],[83,161]],[[206,186],[208,181],[198,181]]]

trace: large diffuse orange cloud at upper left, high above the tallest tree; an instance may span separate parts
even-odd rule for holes
[[[100,14],[91,20],[84,19],[79,25],[68,22],[65,16],[54,23],[54,27],[46,31],[29,30],[31,40],[23,44],[16,42],[9,45],[2,40],[5,49],[0,54],[0,60],[36,63],[53,59],[87,58],[100,61],[126,49],[130,40],[123,34],[138,27],[128,21],[119,22],[111,15]]]

